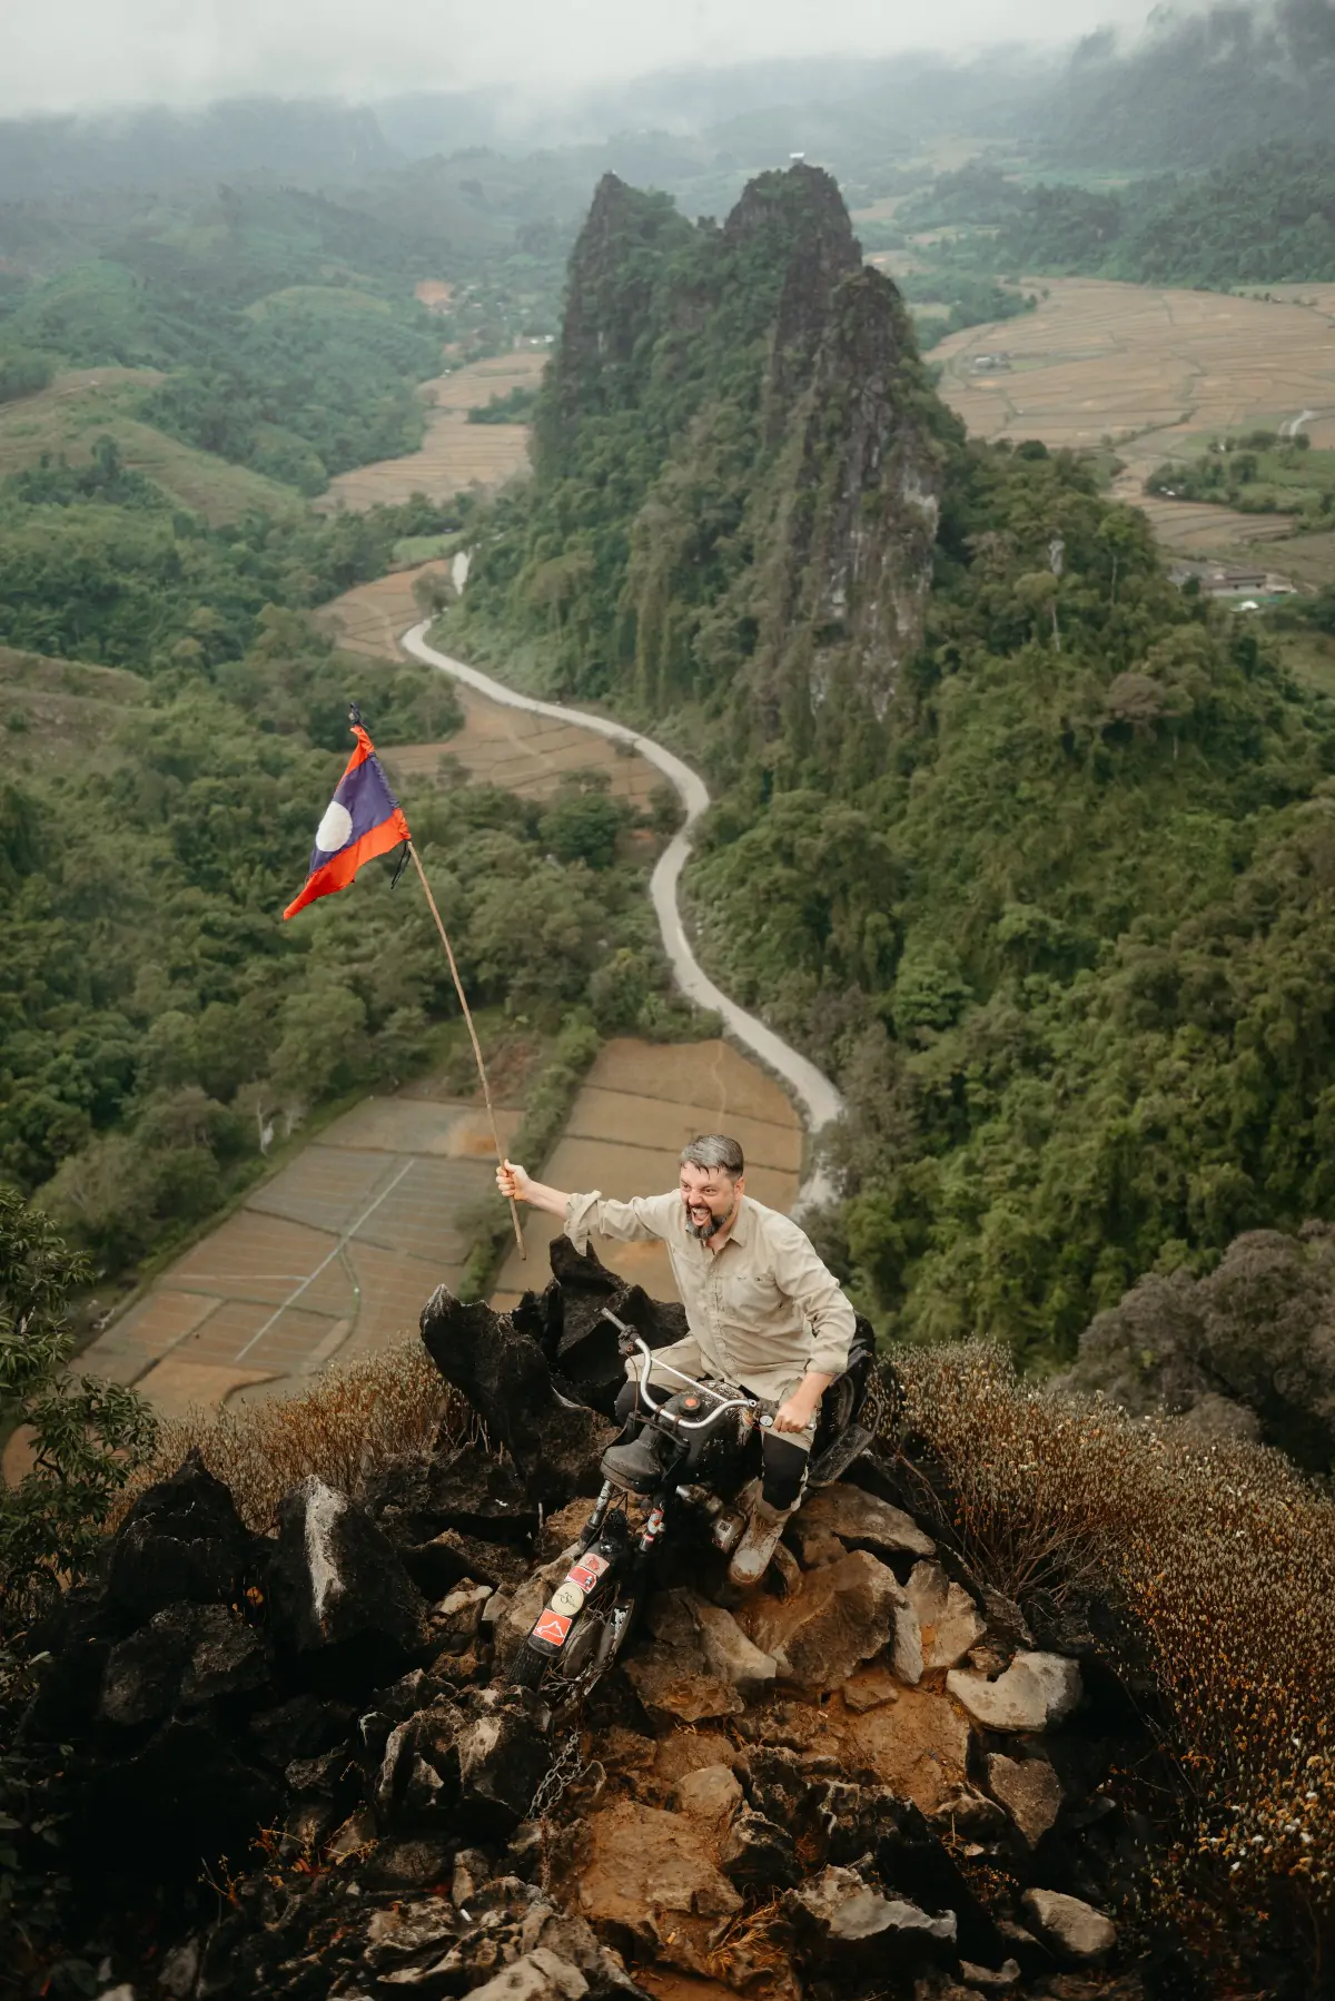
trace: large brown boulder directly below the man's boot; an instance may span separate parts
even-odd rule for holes
[[[871,1495],[863,1499],[875,1501]],[[787,1681],[835,1689],[887,1641],[895,1641],[903,1665],[913,1669],[897,1619],[901,1611],[909,1611],[909,1601],[895,1573],[867,1551],[857,1551],[809,1571],[795,1599],[753,1597],[739,1613],[739,1625],[775,1659]]]

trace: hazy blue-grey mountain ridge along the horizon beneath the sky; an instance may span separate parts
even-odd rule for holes
[[[564,156],[582,182],[580,206],[606,168],[685,202],[699,188],[729,206],[747,174],[789,152],[861,180],[967,134],[981,146],[1021,142],[1057,168],[1135,170],[1209,164],[1333,124],[1335,10],[1329,0],[1279,0],[1155,16],[1131,44],[1107,32],[1061,54],[1003,46],[969,58],[775,58],[658,70],[564,96],[420,90],[352,104],[260,94],[202,110],[8,118],[0,190],[8,202],[38,202],[250,174],[360,186],[436,154],[488,148]],[[713,188],[711,174],[733,178]]]

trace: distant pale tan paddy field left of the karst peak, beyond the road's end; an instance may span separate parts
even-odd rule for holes
[[[468,410],[512,388],[536,388],[544,366],[544,348],[516,348],[422,382],[418,394],[428,412],[420,452],[340,472],[314,502],[316,508],[324,514],[340,506],[356,512],[378,502],[410,500],[412,494],[448,500],[474,482],[502,486],[516,472],[526,472],[528,426],[470,424]]]

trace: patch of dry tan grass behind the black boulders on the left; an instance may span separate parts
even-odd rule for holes
[[[232,1489],[246,1525],[268,1533],[284,1493],[306,1475],[358,1495],[386,1461],[426,1449],[442,1425],[458,1443],[480,1435],[474,1413],[414,1337],[326,1369],[300,1397],[164,1419],[158,1449],[126,1489],[122,1509],[198,1447],[208,1471]]]

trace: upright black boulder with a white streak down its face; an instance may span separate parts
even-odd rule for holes
[[[352,1695],[402,1673],[426,1603],[370,1515],[310,1475],[278,1507],[268,1615],[288,1671]]]

